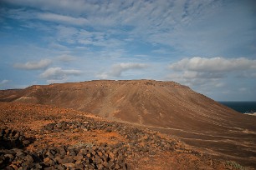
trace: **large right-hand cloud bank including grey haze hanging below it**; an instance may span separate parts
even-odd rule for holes
[[[253,77],[256,60],[224,57],[192,57],[171,63],[172,73],[166,76],[189,87],[202,91],[211,91],[211,87],[225,87],[225,81],[231,77]],[[241,74],[243,73],[243,74]]]

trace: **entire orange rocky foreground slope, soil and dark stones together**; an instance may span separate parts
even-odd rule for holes
[[[179,139],[74,111],[0,102],[0,169],[244,169]]]

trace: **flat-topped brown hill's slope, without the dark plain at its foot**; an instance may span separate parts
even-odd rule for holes
[[[91,112],[101,117],[161,128],[211,130],[255,128],[248,117],[176,82],[91,81],[32,86],[1,95],[1,101],[32,102]],[[256,129],[254,129],[256,130]]]

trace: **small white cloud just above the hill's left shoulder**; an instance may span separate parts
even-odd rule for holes
[[[49,67],[47,70],[40,74],[40,77],[46,79],[62,80],[66,79],[68,76],[78,76],[81,73],[81,71],[74,69],[64,70],[61,67]]]

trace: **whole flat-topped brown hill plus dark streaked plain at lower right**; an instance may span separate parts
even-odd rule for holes
[[[256,117],[243,115],[176,82],[90,81],[0,92],[2,102],[74,108],[174,134],[207,152],[256,166]]]

